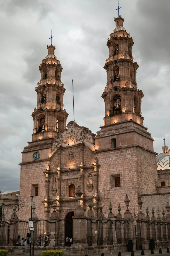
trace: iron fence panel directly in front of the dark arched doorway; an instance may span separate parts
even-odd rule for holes
[[[69,219],[55,222],[55,246],[71,246],[73,241],[73,221]]]

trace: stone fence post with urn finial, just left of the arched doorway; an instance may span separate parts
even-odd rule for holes
[[[56,237],[56,232],[57,230],[55,230],[55,225],[56,225],[56,221],[59,220],[59,217],[58,217],[58,213],[56,212],[56,208],[57,208],[57,205],[56,205],[56,202],[54,201],[53,203],[53,212],[51,213],[51,217],[50,217],[50,246],[55,246],[55,237]],[[51,222],[52,221],[52,222]]]

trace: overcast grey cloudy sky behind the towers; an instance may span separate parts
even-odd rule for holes
[[[120,0],[123,26],[133,38],[142,116],[162,152],[170,147],[170,1]],[[117,0],[0,0],[0,189],[19,190],[22,150],[32,140],[39,65],[47,55],[52,29],[55,55],[63,67],[64,108],[93,133],[104,118],[107,38],[115,28]]]

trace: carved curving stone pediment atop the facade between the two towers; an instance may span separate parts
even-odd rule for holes
[[[94,150],[94,137],[95,134],[87,127],[79,126],[76,122],[71,121],[64,132],[59,132],[54,137],[52,150],[59,146],[76,145],[81,142]]]

